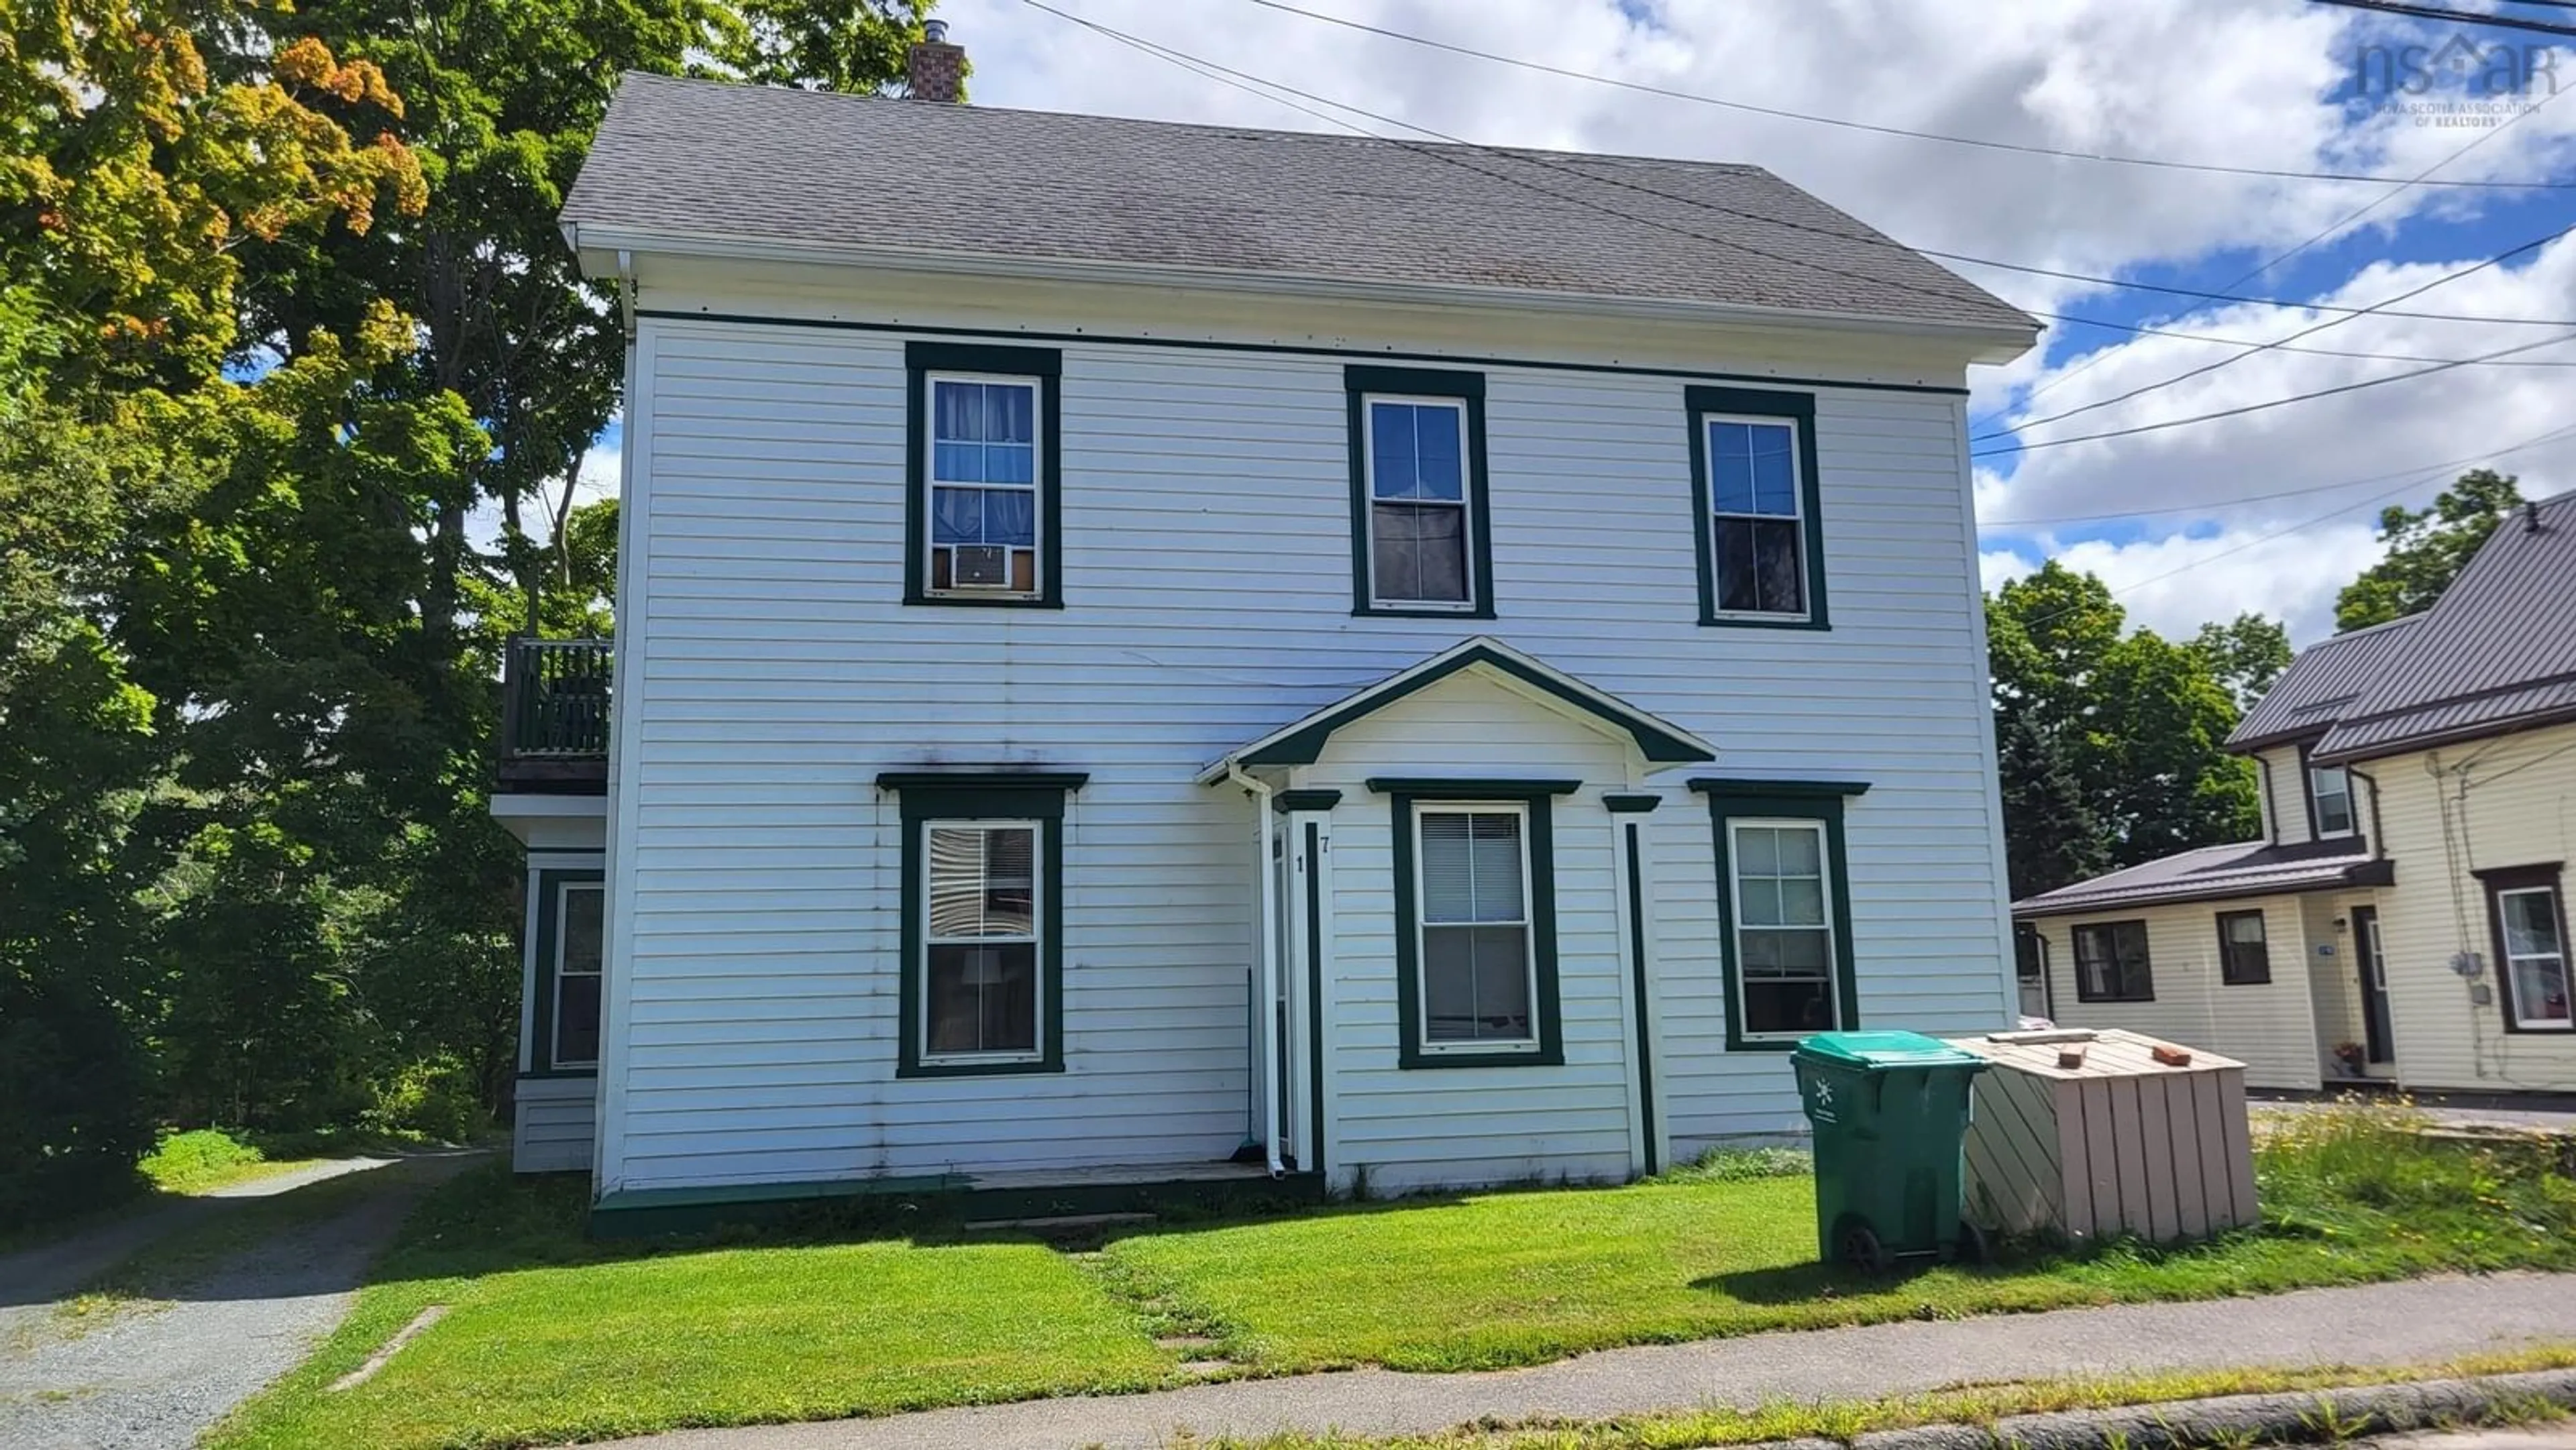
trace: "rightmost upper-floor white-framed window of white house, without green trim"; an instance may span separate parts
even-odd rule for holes
[[[1806,610],[1806,489],[1798,420],[1703,415],[1708,559],[1721,616]]]

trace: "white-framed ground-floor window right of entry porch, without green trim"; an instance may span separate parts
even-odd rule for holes
[[[1832,1030],[1834,883],[1824,822],[1728,819],[1736,1022],[1744,1038]]]

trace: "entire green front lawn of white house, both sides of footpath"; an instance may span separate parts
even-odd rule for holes
[[[2427,1144],[2316,1113],[2259,1149],[2267,1226],[1862,1280],[1814,1265],[1814,1190],[1777,1159],[1162,1226],[1097,1254],[938,1229],[873,1241],[592,1247],[577,1182],[469,1174],[407,1226],[350,1324],[219,1447],[536,1445],[683,1424],[886,1414],[1236,1370],[1468,1370],[1610,1344],[1911,1316],[2208,1298],[2439,1270],[2576,1270],[2576,1182],[2535,1146]],[[325,1386],[430,1303],[374,1380]],[[1188,1350],[1200,1352],[1200,1350]]]

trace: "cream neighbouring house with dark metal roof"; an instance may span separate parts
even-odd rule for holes
[[[2576,1089],[2576,494],[2509,518],[2411,618],[2313,644],[2236,726],[2264,840],[2014,904],[2048,1012],[2246,1061]]]

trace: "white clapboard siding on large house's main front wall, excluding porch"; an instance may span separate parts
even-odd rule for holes
[[[1352,618],[1345,358],[1072,343],[1066,608],[907,608],[902,337],[647,319],[639,348],[603,1190],[1229,1154],[1252,832],[1193,775],[1471,634],[1708,737],[1721,773],[1870,780],[1862,1020],[2007,1017],[1953,397],[1816,389],[1834,628],[1703,628],[1682,379],[1479,368],[1499,618]],[[1064,1074],[891,1077],[899,840],[873,775],[927,762],[1092,773],[1066,806]],[[1659,935],[1716,981],[1708,814],[1664,791]],[[1561,834],[1607,840],[1577,811]],[[1373,889],[1350,855],[1334,883]],[[1677,1051],[1708,1022],[1674,1022]],[[1677,1138],[1795,1120],[1775,1053],[1677,1071]]]

